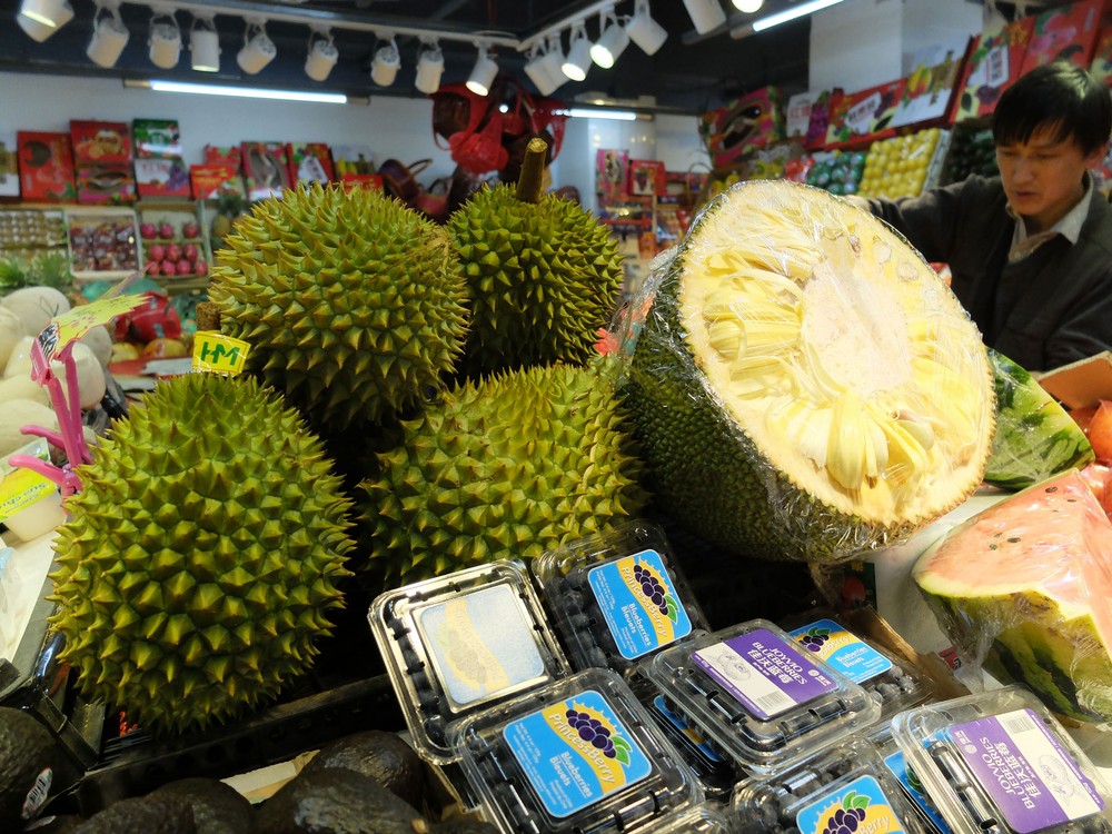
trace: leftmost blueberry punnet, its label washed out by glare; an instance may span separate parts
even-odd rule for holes
[[[487,565],[379,595],[370,628],[414,746],[447,764],[454,721],[568,674],[525,567]]]

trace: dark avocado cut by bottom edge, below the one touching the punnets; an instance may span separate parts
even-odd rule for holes
[[[346,767],[302,770],[255,818],[255,830],[266,834],[415,834],[429,827],[409,803]]]

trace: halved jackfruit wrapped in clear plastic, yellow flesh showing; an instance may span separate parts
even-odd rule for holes
[[[820,189],[747,181],[711,200],[617,341],[661,508],[729,552],[844,562],[984,473],[975,326],[919,252]]]

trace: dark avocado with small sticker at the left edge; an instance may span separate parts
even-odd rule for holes
[[[19,831],[47,801],[58,766],[54,737],[34,716],[0,707],[0,831]]]

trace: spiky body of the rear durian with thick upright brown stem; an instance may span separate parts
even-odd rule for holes
[[[590,359],[622,288],[606,227],[569,200],[524,202],[499,185],[476,192],[447,228],[474,299],[460,360],[468,376]]]

